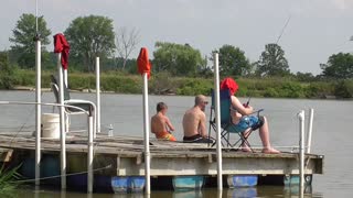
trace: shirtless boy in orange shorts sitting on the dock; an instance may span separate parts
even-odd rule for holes
[[[175,142],[176,139],[170,133],[174,131],[174,127],[170,122],[167,114],[168,107],[164,102],[157,103],[157,113],[151,119],[151,131],[159,140],[168,140]]]

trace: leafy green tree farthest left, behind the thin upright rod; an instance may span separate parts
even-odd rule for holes
[[[42,58],[45,61],[49,57],[45,45],[50,44],[49,35],[52,32],[46,28],[46,22],[43,15],[38,18],[38,34],[42,44]],[[11,46],[12,56],[15,57],[18,64],[23,68],[34,68],[35,65],[35,45],[34,36],[35,15],[23,13],[12,30],[12,37],[9,41],[13,44]]]

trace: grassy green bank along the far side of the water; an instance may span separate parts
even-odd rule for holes
[[[42,72],[42,87],[50,87],[50,75],[54,72]],[[336,98],[353,97],[353,79],[351,80],[321,80],[303,82],[288,78],[236,78],[239,84],[237,96],[266,98]],[[95,75],[69,73],[71,89],[95,89]],[[0,88],[13,89],[17,86],[35,86],[34,70],[15,70],[11,77],[0,75]],[[140,75],[129,75],[120,72],[103,73],[100,75],[103,91],[117,94],[141,94],[142,78]],[[213,88],[212,78],[172,77],[169,74],[152,75],[149,80],[149,91],[156,95],[175,94],[194,96],[210,95]]]

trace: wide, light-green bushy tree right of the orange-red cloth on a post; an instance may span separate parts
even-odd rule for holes
[[[156,72],[169,72],[178,76],[193,76],[205,65],[199,50],[189,44],[156,43],[153,66]]]

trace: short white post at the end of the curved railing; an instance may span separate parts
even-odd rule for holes
[[[93,193],[93,117],[88,117],[87,193]]]

